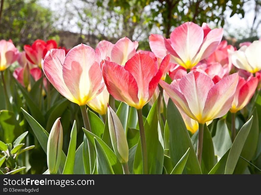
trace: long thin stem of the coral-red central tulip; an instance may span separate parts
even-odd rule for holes
[[[141,154],[142,154],[142,167],[143,174],[148,174],[148,156],[147,156],[147,145],[143,126],[142,109],[137,110],[138,121],[139,121],[139,131],[141,138]]]

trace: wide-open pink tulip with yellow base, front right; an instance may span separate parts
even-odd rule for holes
[[[238,84],[238,73],[216,84],[200,72],[190,72],[170,85],[162,80],[159,83],[180,110],[204,124],[222,117],[230,109]]]

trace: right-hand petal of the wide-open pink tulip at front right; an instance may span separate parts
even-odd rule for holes
[[[222,117],[228,112],[237,84],[238,73],[234,73],[220,80],[209,90],[200,123]]]

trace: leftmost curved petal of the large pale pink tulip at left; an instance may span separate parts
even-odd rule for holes
[[[42,60],[42,69],[47,79],[59,93],[71,102],[77,103],[77,100],[72,96],[63,80],[62,64],[64,58],[65,52],[63,49],[52,49],[47,52],[44,60]]]

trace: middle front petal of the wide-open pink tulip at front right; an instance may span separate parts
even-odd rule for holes
[[[212,79],[200,72],[190,72],[179,82],[180,91],[186,98],[191,112],[198,121],[201,121],[209,90],[213,86],[214,82]]]

